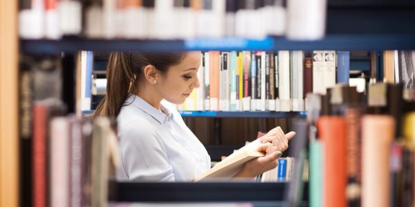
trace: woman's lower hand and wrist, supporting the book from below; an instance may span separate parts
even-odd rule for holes
[[[246,162],[242,170],[237,175],[234,175],[234,177],[255,177],[278,166],[278,158],[281,157],[282,152],[277,150],[277,147],[273,146],[270,142],[266,142],[259,145],[257,150],[259,152],[265,152],[266,155]]]

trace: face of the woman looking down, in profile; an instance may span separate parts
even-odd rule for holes
[[[201,52],[187,52],[181,63],[171,66],[165,75],[160,77],[156,90],[163,99],[181,104],[189,97],[194,88],[199,88],[197,71],[201,66]]]

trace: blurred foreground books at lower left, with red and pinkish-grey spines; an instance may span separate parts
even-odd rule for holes
[[[27,144],[27,143],[26,143]],[[30,155],[22,157],[23,205],[104,206],[118,166],[116,124],[65,115],[56,99],[33,103]],[[30,199],[31,198],[31,199]]]

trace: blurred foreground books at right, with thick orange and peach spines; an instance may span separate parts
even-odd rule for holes
[[[310,206],[412,206],[415,93],[402,83],[308,95]]]

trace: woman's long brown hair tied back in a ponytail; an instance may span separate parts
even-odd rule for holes
[[[117,117],[129,93],[137,94],[138,82],[143,78],[142,70],[152,65],[165,74],[185,57],[182,52],[140,53],[111,52],[107,65],[107,94],[95,110],[93,117]]]

